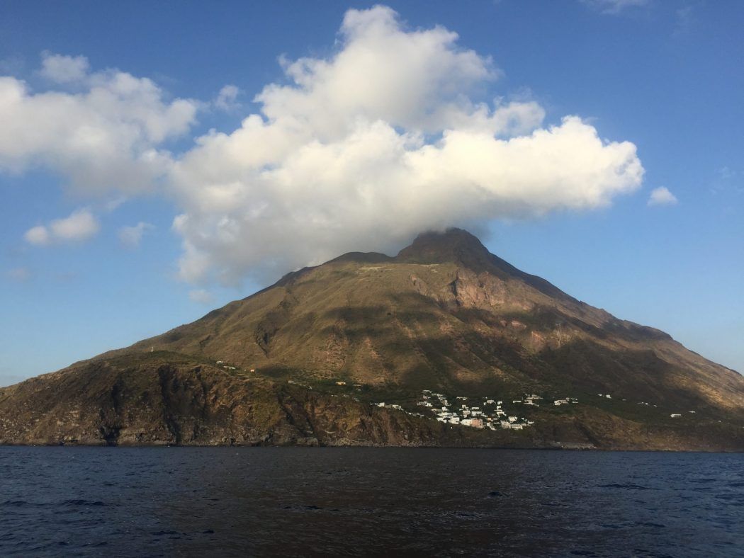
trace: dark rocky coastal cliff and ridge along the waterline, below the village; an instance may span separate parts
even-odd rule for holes
[[[522,431],[448,426],[350,394],[229,373],[178,353],[124,354],[0,389],[0,443],[323,445],[728,451],[722,423],[650,426],[578,405]],[[363,397],[363,396],[362,396]]]

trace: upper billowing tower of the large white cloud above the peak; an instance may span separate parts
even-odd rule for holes
[[[388,7],[348,10],[342,48],[330,59],[282,60],[292,85],[270,84],[257,95],[263,115],[305,125],[325,141],[356,121],[438,132],[469,118],[485,127],[488,108],[466,94],[498,77],[488,57],[459,48],[445,28],[406,31]]]

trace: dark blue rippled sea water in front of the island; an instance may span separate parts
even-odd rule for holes
[[[744,455],[0,447],[0,556],[744,556]]]

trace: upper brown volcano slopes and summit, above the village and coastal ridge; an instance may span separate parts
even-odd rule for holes
[[[667,334],[583,304],[465,231],[389,258],[346,254],[126,351],[417,390],[612,393],[744,409],[744,377]]]

